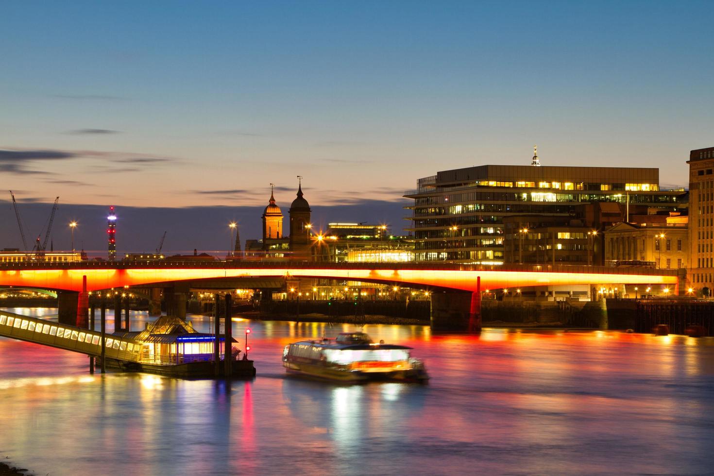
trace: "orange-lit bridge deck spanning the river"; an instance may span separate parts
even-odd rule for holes
[[[246,278],[326,278],[411,288],[476,291],[553,285],[667,285],[678,291],[676,270],[597,266],[481,266],[438,263],[313,263],[286,261],[2,263],[0,285],[87,290],[187,283],[240,282]]]

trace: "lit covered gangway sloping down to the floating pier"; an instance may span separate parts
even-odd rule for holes
[[[49,345],[87,355],[101,355],[101,333],[56,324],[48,320],[0,311],[0,335],[26,342]],[[141,344],[134,340],[105,336],[107,358],[138,362]]]

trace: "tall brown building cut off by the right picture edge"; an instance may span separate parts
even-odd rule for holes
[[[690,285],[711,295],[714,288],[714,147],[690,151],[689,160]]]

